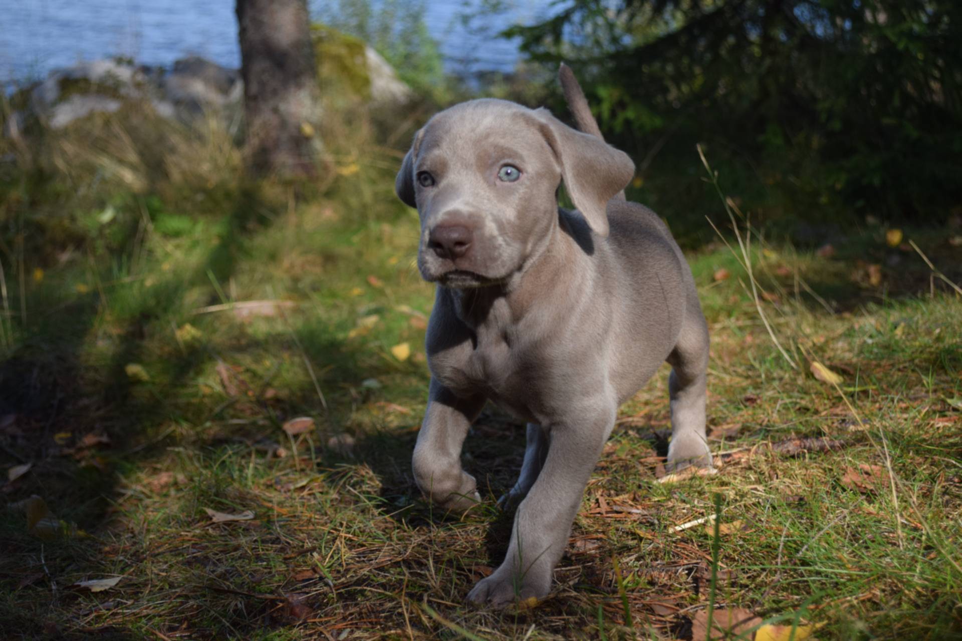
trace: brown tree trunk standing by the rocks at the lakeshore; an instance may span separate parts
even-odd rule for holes
[[[248,167],[311,176],[319,92],[307,0],[237,0],[237,13]]]

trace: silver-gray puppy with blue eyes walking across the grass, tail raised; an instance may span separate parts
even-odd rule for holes
[[[472,100],[418,131],[395,185],[420,215],[418,269],[439,285],[418,487],[444,508],[474,505],[461,467],[471,422],[488,399],[528,421],[511,543],[475,604],[547,595],[618,407],[665,360],[668,465],[712,464],[691,270],[658,216],[625,202],[634,164],[601,138],[570,69],[560,75],[586,133],[544,109]],[[558,207],[562,181],[577,210]]]

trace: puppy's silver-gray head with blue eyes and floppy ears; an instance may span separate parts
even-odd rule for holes
[[[545,110],[473,100],[435,115],[397,173],[398,197],[420,216],[418,269],[450,287],[502,283],[557,225],[561,181],[595,234],[634,164]]]

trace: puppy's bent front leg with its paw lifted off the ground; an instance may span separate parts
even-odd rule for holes
[[[461,469],[461,447],[484,402],[480,395],[457,397],[431,380],[413,463],[420,491],[445,509],[463,511],[481,500],[474,477]]]

